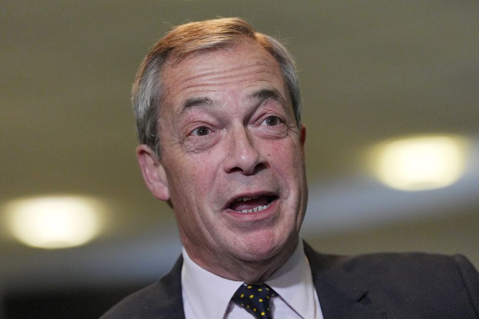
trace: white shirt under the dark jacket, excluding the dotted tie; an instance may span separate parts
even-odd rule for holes
[[[231,301],[243,284],[219,277],[198,266],[183,248],[181,284],[186,319],[251,319],[253,316]],[[303,241],[291,257],[264,281],[279,296],[271,298],[273,318],[323,319]]]

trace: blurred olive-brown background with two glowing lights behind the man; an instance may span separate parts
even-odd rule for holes
[[[4,0],[0,318],[98,318],[173,265],[173,214],[134,156],[131,83],[172,26],[218,16],[297,60],[304,239],[479,266],[478,1]]]

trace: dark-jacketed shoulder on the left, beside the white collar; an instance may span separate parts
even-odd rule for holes
[[[184,318],[182,263],[180,257],[167,275],[121,300],[100,319]]]

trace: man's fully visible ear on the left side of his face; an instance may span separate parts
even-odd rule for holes
[[[136,158],[140,164],[143,179],[153,196],[160,200],[170,199],[165,169],[152,149],[145,144],[139,145],[136,148]]]

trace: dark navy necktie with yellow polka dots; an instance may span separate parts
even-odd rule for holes
[[[274,296],[276,296],[276,292],[273,288],[264,283],[255,285],[245,283],[238,288],[232,300],[256,319],[273,319],[269,309],[269,300]]]

